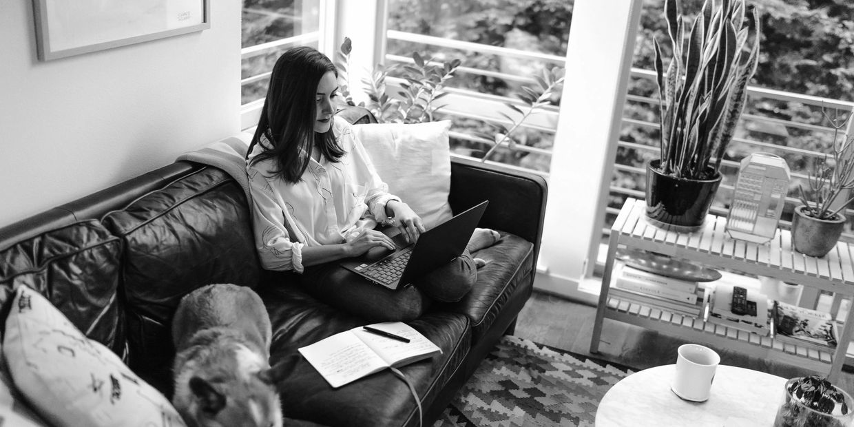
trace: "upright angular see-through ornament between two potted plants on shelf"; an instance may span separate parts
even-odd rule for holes
[[[729,204],[729,236],[754,243],[774,238],[789,178],[789,166],[779,155],[753,153],[742,159]]]

